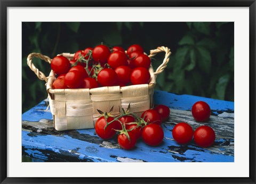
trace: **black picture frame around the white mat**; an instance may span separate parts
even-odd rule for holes
[[[0,91],[0,181],[1,183],[255,183],[255,0],[108,0],[108,1],[95,1],[95,0],[45,0],[45,1],[10,1],[0,0],[1,6],[1,91]],[[75,6],[129,6],[129,7],[249,7],[250,11],[250,168],[248,178],[9,178],[7,177],[7,7],[42,7],[42,6],[61,6],[61,7],[75,7]]]

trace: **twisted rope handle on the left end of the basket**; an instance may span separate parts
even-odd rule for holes
[[[31,53],[28,55],[28,58],[27,58],[27,63],[28,63],[28,66],[29,68],[35,72],[36,76],[42,80],[42,81],[46,81],[46,83],[48,82],[48,78],[45,77],[44,73],[42,73],[42,71],[39,71],[35,65],[33,64],[32,60],[33,58],[40,58],[46,62],[49,62],[51,64],[51,58],[47,57],[46,55],[43,55],[41,53]]]

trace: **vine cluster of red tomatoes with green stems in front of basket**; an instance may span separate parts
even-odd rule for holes
[[[118,132],[117,141],[123,149],[134,148],[138,139],[150,146],[159,145],[164,138],[162,122],[169,118],[170,109],[158,105],[155,109],[148,109],[139,117],[130,112],[130,107],[121,110],[119,116],[98,110],[102,115],[95,123],[95,132],[102,139],[111,139]]]

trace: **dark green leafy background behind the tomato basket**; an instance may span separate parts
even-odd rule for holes
[[[28,54],[50,58],[99,44],[158,46],[172,54],[155,89],[234,101],[234,22],[22,22],[22,113],[47,98],[45,82],[27,66]],[[151,60],[161,65],[164,53]],[[48,76],[49,63],[34,59]]]

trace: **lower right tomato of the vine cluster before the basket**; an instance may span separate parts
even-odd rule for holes
[[[157,146],[164,139],[164,131],[160,125],[152,123],[143,128],[141,136],[148,145]]]

